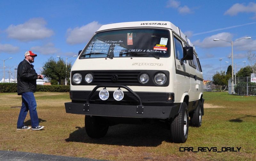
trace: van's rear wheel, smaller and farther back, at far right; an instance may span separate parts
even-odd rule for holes
[[[200,127],[202,125],[202,111],[201,111],[201,101],[199,100],[197,108],[190,115],[190,123],[193,127]]]

